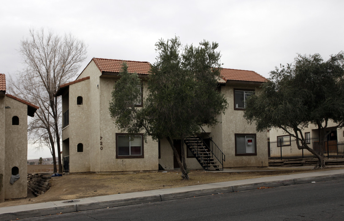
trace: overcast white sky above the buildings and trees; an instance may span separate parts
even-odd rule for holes
[[[224,68],[269,77],[297,53],[327,59],[344,50],[343,8],[339,0],[2,1],[0,73],[22,68],[20,41],[30,28],[44,27],[88,44],[82,69],[93,57],[153,63],[155,42],[176,35],[183,45],[216,41]],[[28,159],[50,156],[49,150],[28,151]]]

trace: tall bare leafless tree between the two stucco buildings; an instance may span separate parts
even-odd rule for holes
[[[75,78],[86,59],[87,45],[71,33],[63,37],[51,30],[30,29],[30,37],[20,42],[19,50],[25,68],[17,79],[10,78],[10,92],[37,106],[35,117],[29,122],[29,139],[49,147],[56,168],[55,147],[58,155],[58,172],[61,164],[61,105],[55,97],[58,86]]]

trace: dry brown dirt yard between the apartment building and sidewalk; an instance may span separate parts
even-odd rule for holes
[[[257,168],[245,168],[245,170]],[[344,169],[344,167],[332,167],[324,170]],[[111,195],[145,190],[166,189],[216,183],[232,180],[244,180],[258,177],[285,175],[291,173],[314,172],[312,169],[295,168],[293,170],[260,169],[254,172],[206,172],[193,170],[190,172],[190,180],[181,180],[180,171],[154,171],[154,172],[131,172],[131,173],[77,173],[53,177],[51,188],[44,194],[34,197],[28,193],[27,198],[6,200],[0,203],[0,207],[22,205],[29,203],[40,203],[59,200],[73,200],[101,195]]]

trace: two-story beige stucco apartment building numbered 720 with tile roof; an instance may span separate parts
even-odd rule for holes
[[[149,62],[125,61],[129,72],[142,81],[142,98],[147,96]],[[120,132],[108,110],[111,91],[120,78],[123,61],[93,58],[75,81],[63,84],[56,96],[62,96],[62,152],[64,169],[69,172],[110,172],[158,170],[178,167],[167,140],[159,142],[143,134],[131,139]],[[225,156],[223,167],[267,166],[267,133],[256,132],[243,118],[245,98],[259,91],[267,79],[254,71],[222,69],[221,93],[229,104],[213,128],[204,127],[208,141],[215,143]],[[176,148],[179,142],[175,142]],[[187,150],[190,169],[202,169],[194,153]],[[222,167],[222,166],[221,166]]]

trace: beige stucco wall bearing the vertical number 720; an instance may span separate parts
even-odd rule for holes
[[[151,137],[143,144],[144,158],[116,159],[116,133],[121,131],[115,127],[108,110],[116,78],[101,76],[94,62],[88,64],[78,79],[87,76],[89,80],[69,85],[69,139],[63,146],[67,150],[69,144],[70,172],[158,170],[158,142]],[[145,97],[147,84],[143,85]],[[78,96],[83,97],[83,105],[76,104]],[[77,152],[78,143],[83,143],[83,152]]]

